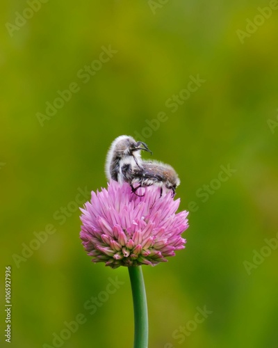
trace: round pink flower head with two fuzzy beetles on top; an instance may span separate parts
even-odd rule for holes
[[[159,187],[144,189],[136,196],[129,184],[111,180],[81,209],[80,237],[93,262],[106,266],[138,266],[167,261],[185,248],[181,233],[188,228],[188,212],[175,214],[180,200]]]

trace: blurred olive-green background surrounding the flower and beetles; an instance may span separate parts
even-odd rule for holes
[[[143,267],[149,347],[278,347],[276,3],[1,3],[1,347],[132,347],[128,271],[90,262],[77,208],[106,186],[122,134],[174,166],[191,209],[186,249]],[[122,283],[107,299],[109,278]]]

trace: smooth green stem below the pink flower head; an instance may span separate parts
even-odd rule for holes
[[[147,297],[141,266],[128,267],[134,309],[134,345],[133,348],[147,348],[148,317]]]

